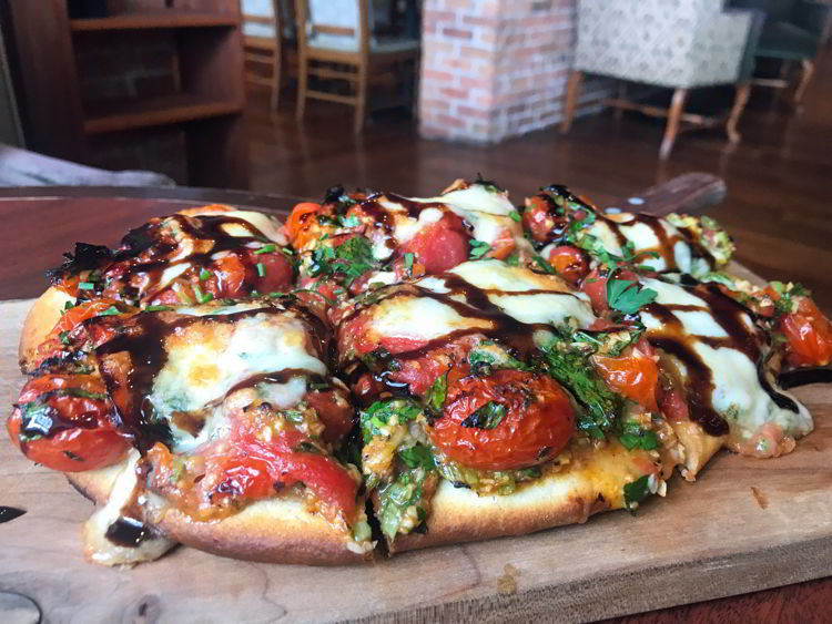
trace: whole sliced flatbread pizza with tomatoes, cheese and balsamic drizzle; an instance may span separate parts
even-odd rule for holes
[[[708,217],[559,185],[333,187],[285,225],[192,208],[51,272],[8,429],[97,502],[109,565],[342,564],[635,512],[812,430],[778,378],[828,365],[832,324],[732,252]]]

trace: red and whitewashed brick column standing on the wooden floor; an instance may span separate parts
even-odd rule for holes
[[[560,121],[576,0],[425,0],[419,132],[496,143]],[[579,114],[606,80],[586,81]]]

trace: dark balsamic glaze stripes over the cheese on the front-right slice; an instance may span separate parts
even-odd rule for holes
[[[648,336],[650,344],[677,357],[687,368],[684,386],[688,397],[690,419],[698,422],[711,436],[724,436],[729,432],[728,422],[713,409],[713,374],[694,350],[696,342],[709,345],[714,349],[735,349],[748,357],[757,367],[758,379],[763,390],[781,409],[799,411],[798,405],[779,392],[765,374],[762,335],[758,329],[750,329],[743,318],[753,320],[753,314],[743,305],[726,296],[713,284],[698,284],[692,278],[680,285],[693,296],[704,300],[706,306],[648,304],[643,311],[659,318],[662,329]],[[681,321],[673,311],[704,311],[728,335],[723,338],[691,336],[686,333]]]

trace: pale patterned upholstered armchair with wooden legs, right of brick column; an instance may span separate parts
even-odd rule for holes
[[[578,44],[569,78],[562,131],[571,125],[584,73],[673,89],[669,110],[619,98],[621,109],[667,117],[659,154],[672,150],[681,122],[714,125],[724,120],[684,113],[691,89],[737,85],[728,116],[731,142],[749,94],[753,49],[760,18],[750,11],[726,11],[724,0],[578,0]]]

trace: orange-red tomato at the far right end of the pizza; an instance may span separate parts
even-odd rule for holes
[[[798,311],[784,315],[780,330],[789,339],[792,366],[826,366],[832,360],[832,323],[809,297],[795,297]]]

